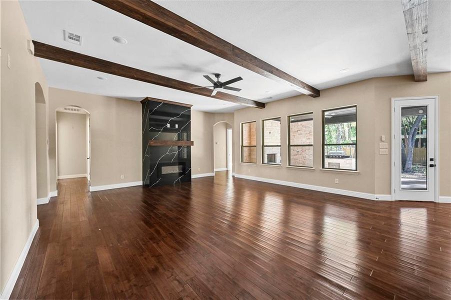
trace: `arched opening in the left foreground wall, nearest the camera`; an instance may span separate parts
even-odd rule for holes
[[[36,196],[37,204],[48,202],[47,174],[47,106],[39,82],[34,83],[36,136]]]

